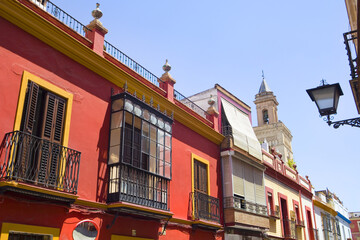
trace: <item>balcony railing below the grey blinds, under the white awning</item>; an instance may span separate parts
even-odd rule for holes
[[[235,208],[235,209],[244,210],[247,212],[252,212],[252,213],[261,214],[261,215],[265,215],[265,216],[268,215],[267,208],[265,205],[246,201],[245,199],[238,197],[238,196],[225,197],[224,198],[224,208]]]

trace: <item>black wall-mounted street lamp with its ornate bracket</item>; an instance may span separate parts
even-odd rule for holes
[[[327,84],[325,80],[321,80],[321,85],[317,88],[306,90],[311,100],[316,103],[320,116],[326,116],[324,120],[329,124],[333,124],[334,128],[338,128],[341,125],[350,125],[353,127],[360,127],[360,118],[352,118],[337,122],[332,122],[333,117],[331,114],[336,114],[339,98],[344,95],[340,84]]]

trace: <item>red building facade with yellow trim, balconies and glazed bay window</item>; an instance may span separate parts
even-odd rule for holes
[[[217,117],[35,3],[0,3],[0,239],[222,239]]]

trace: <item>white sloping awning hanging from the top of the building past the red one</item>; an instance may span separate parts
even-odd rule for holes
[[[248,115],[225,99],[221,99],[221,104],[226,118],[232,127],[234,145],[261,160],[261,145],[251,126]]]

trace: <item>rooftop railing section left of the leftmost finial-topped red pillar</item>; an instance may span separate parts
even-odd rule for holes
[[[36,0],[31,1],[37,2]],[[43,6],[43,9],[83,37],[85,37],[86,31],[91,31],[85,27],[85,25],[81,24],[78,20],[70,16],[68,13],[50,1],[46,2],[46,5]]]

